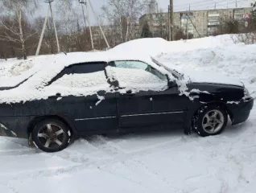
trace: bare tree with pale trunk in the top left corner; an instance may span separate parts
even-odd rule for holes
[[[26,41],[36,34],[36,31],[25,31],[24,26],[27,24],[24,9],[31,13],[36,7],[36,2],[29,0],[3,0],[2,1],[2,18],[0,19],[0,27],[2,33],[0,40],[12,43],[19,43],[23,52],[23,59],[27,59]]]

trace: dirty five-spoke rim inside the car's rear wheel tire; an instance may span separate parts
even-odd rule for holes
[[[39,129],[37,138],[43,147],[52,149],[57,148],[64,143],[65,133],[60,126],[47,124]]]

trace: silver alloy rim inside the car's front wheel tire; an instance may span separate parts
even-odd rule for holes
[[[214,134],[224,125],[224,115],[219,110],[211,110],[204,115],[202,126],[206,133]]]

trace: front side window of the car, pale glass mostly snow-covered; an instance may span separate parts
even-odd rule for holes
[[[120,88],[159,90],[167,88],[167,77],[140,61],[116,61],[106,67],[110,81],[118,81]]]

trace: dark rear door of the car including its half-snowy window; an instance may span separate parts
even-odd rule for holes
[[[114,92],[105,76],[105,63],[74,64],[47,86],[56,112],[75,122],[81,135],[113,132],[118,127]]]

